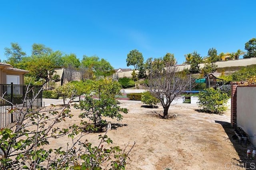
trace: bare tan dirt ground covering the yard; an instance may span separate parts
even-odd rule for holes
[[[109,130],[107,135],[115,145],[124,145],[134,141],[130,152],[127,170],[224,170],[242,169],[239,165],[246,150],[252,146],[241,146],[232,141],[230,128],[230,110],[224,115],[200,113],[197,107],[172,106],[169,114],[177,114],[175,119],[161,119],[158,113],[163,109],[141,107],[138,103],[121,103],[128,109],[120,127]],[[79,110],[71,107],[72,119],[59,127],[68,127],[79,123]],[[104,133],[102,133],[104,134]],[[99,133],[88,134],[86,138],[97,145]],[[67,140],[52,140],[50,147],[66,146]],[[128,147],[129,148],[129,147]],[[242,152],[242,154],[239,154]]]

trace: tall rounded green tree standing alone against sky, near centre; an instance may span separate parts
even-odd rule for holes
[[[142,53],[140,53],[137,49],[133,49],[127,54],[127,66],[133,65],[134,69],[137,70],[139,67],[143,65],[143,62],[144,58],[142,56]]]

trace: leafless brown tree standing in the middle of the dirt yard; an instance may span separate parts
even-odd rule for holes
[[[160,100],[164,109],[163,118],[168,118],[168,110],[172,101],[184,90],[190,88],[190,77],[178,72],[177,65],[167,66],[152,72],[149,79],[150,93]]]

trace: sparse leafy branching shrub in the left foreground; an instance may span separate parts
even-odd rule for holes
[[[30,91],[26,92],[28,93]],[[33,96],[37,95],[33,93]],[[4,100],[2,97],[0,99]],[[18,110],[13,106],[10,114]],[[28,106],[30,107],[32,106]],[[1,170],[125,168],[126,159],[134,145],[128,151],[127,147],[122,150],[119,146],[109,146],[107,144],[113,144],[113,141],[105,133],[99,135],[99,144],[93,146],[84,138],[89,132],[95,131],[95,128],[83,120],[79,125],[59,128],[60,124],[66,124],[65,121],[73,117],[69,105],[19,111],[14,127],[0,129]],[[64,140],[67,145],[50,148],[51,140]]]

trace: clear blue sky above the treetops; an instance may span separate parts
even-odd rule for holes
[[[146,61],[174,53],[206,56],[244,50],[256,37],[255,0],[3,0],[0,2],[0,59],[17,42],[27,55],[33,43],[54,51],[98,55],[126,68],[129,51]],[[132,67],[131,67],[132,68]]]

